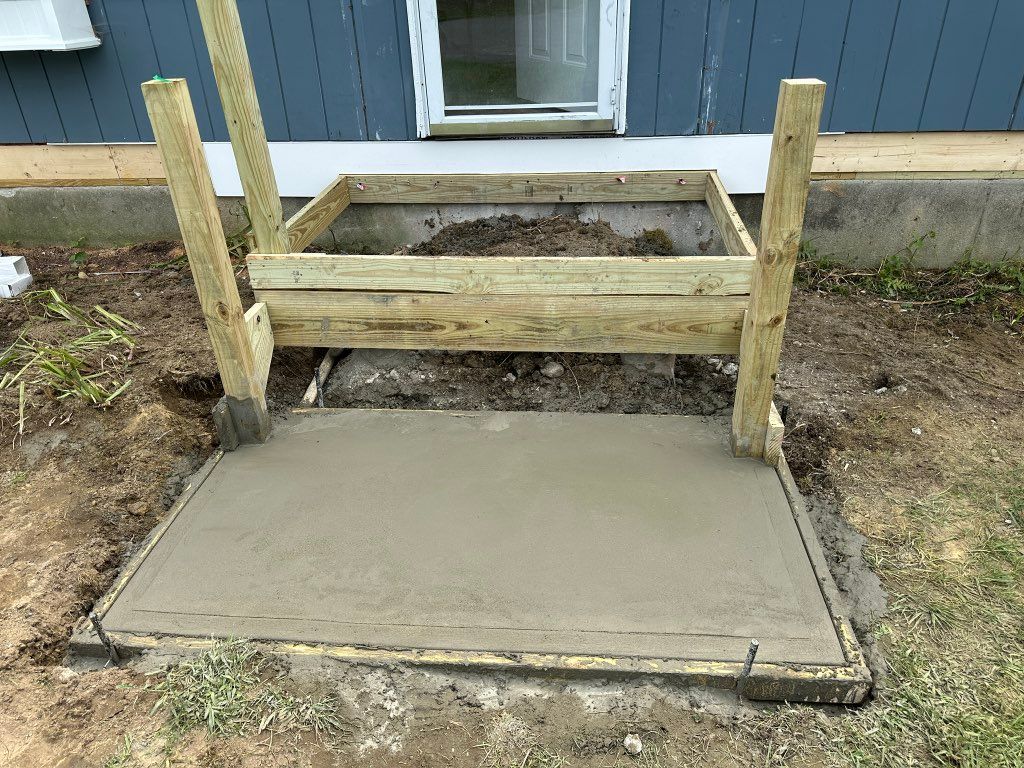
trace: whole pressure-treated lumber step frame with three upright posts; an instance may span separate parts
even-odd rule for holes
[[[184,80],[142,86],[225,398],[222,442],[261,441],[279,346],[739,353],[732,444],[777,464],[772,406],[824,83],[783,80],[757,246],[715,170],[339,175],[289,221],[236,0],[199,0],[253,221],[243,312]],[[299,253],[360,203],[703,201],[727,255],[485,258]]]

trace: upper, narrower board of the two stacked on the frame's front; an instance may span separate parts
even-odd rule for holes
[[[449,294],[730,296],[750,293],[754,259],[735,256],[249,256],[255,290]]]

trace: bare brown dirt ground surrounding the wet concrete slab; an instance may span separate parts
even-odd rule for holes
[[[656,255],[664,243],[509,219],[454,225],[414,252],[535,247]],[[4,252],[27,255],[36,288],[141,329],[130,355],[111,350],[121,359],[104,362],[132,380],[106,408],[29,386],[23,419],[17,387],[0,390],[0,766],[1024,764],[1024,341],[989,304],[898,302],[820,280],[794,293],[776,398],[787,411],[785,452],[881,676],[871,703],[754,707],[656,680],[300,659],[260,675],[331,701],[330,739],[272,724],[215,736],[175,732],[167,708],[152,712],[159,694],[143,687],[174,659],[65,666],[74,624],[215,447],[219,382],[187,267],[174,262],[180,248]],[[241,268],[239,281],[250,300]],[[0,349],[23,334],[56,340],[62,322],[38,304],[3,302]],[[315,359],[278,351],[272,408],[297,403]],[[326,400],[724,417],[733,364],[357,352]],[[629,733],[644,743],[639,756],[623,749]]]

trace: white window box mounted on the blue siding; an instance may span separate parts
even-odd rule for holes
[[[85,0],[0,0],[0,50],[95,48]]]

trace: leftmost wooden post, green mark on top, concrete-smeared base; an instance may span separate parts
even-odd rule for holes
[[[238,442],[262,441],[270,425],[266,398],[188,86],[184,80],[151,80],[142,93],[224,385],[227,426]],[[230,430],[222,437],[232,441]]]

